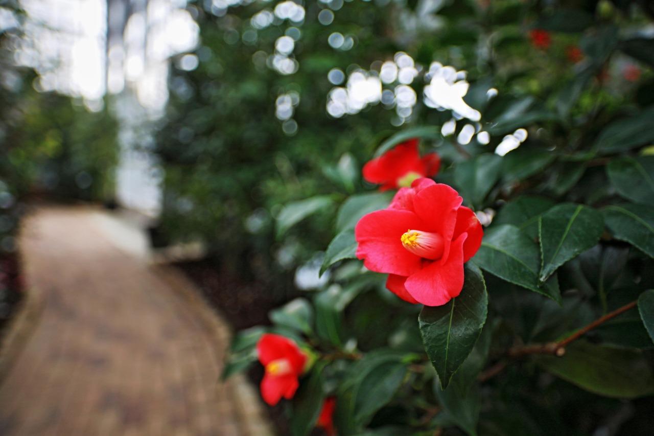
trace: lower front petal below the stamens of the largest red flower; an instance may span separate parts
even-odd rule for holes
[[[411,297],[425,306],[442,306],[461,293],[466,236],[462,234],[452,243],[447,261],[432,262],[407,278],[404,285]]]

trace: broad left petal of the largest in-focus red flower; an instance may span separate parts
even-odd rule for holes
[[[383,209],[368,213],[356,223],[356,257],[371,271],[409,276],[420,269],[421,259],[402,246],[402,234],[422,228],[411,211]]]

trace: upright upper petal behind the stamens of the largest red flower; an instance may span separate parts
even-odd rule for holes
[[[426,227],[419,230],[436,232],[443,237],[444,249],[441,261],[447,261],[449,246],[456,226],[456,209],[463,199],[454,189],[442,183],[426,187],[413,198],[413,209]]]

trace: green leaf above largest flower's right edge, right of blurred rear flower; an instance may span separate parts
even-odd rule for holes
[[[454,178],[464,202],[480,208],[490,189],[500,177],[502,158],[483,153],[455,167]]]

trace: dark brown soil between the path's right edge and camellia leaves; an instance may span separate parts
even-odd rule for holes
[[[269,325],[269,310],[299,295],[290,274],[273,276],[265,270],[237,272],[233,267],[211,259],[176,266],[198,285],[205,298],[220,310],[234,331],[254,325]],[[264,376],[263,368],[252,365],[247,376],[255,386],[259,386]],[[265,407],[279,435],[289,434],[284,403],[283,400],[275,407]]]

